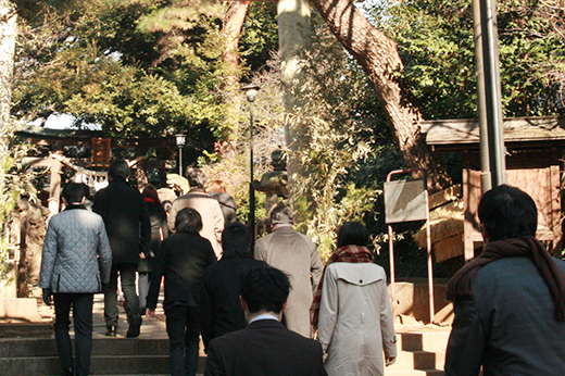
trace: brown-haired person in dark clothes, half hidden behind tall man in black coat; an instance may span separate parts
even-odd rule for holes
[[[168,236],[168,226],[166,224],[166,212],[159,199],[156,188],[148,184],[141,191],[146,199],[147,210],[149,211],[149,221],[151,222],[151,250],[149,254],[140,254],[141,260],[137,265],[138,280],[137,289],[139,291],[139,308],[141,313],[146,312],[147,293],[151,284],[151,272],[155,256],[161,249],[161,241]]]

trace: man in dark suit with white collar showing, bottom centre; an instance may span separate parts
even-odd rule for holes
[[[205,376],[326,375],[322,346],[280,324],[290,290],[285,273],[258,265],[241,272],[244,329],[213,339]]]

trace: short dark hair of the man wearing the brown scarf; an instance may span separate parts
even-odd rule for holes
[[[502,185],[485,192],[478,214],[491,241],[536,236],[536,202],[518,188]]]

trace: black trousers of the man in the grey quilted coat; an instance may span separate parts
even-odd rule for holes
[[[93,293],[53,293],[55,304],[56,351],[63,369],[74,368],[78,376],[88,375],[92,352],[92,302]],[[68,315],[73,306],[75,325],[75,360],[73,367],[73,348],[68,326]]]

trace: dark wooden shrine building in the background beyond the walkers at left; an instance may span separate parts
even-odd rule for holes
[[[86,183],[92,189],[103,184],[111,159],[128,161],[135,170],[138,184],[147,184],[156,175],[165,184],[165,172],[176,165],[178,148],[175,137],[137,137],[117,143],[104,138],[101,130],[49,129],[29,126],[16,133],[20,142],[34,145],[38,156],[26,158],[23,164],[33,168],[49,168],[49,186],[43,187],[48,195],[47,206],[52,214],[59,211],[61,178],[63,167],[70,167],[76,180]],[[151,181],[159,188],[159,183]]]

